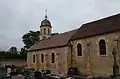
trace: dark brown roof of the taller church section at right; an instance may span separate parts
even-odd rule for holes
[[[83,24],[71,40],[120,31],[120,14]]]

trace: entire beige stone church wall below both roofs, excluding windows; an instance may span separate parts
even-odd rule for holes
[[[113,48],[120,48],[120,42],[118,44],[114,42],[115,38],[120,36],[120,32],[109,33],[100,36],[94,36],[84,39],[78,39],[73,41],[73,67],[78,67],[79,71],[83,74],[91,74],[94,76],[112,75],[113,73]],[[100,55],[99,53],[99,41],[103,39],[106,42],[106,55]],[[87,55],[87,43],[90,42],[90,55]],[[82,45],[82,56],[77,56],[77,44]],[[119,49],[120,50],[120,49]],[[55,53],[55,63],[51,63],[51,53]],[[41,63],[41,54],[44,54],[44,63]],[[32,63],[33,54],[38,55],[36,62]],[[89,57],[89,60],[88,60]],[[120,52],[117,57],[118,64],[120,63]],[[28,52],[27,63],[29,68],[38,69],[50,69],[53,73],[67,73],[71,66],[71,50],[70,47],[61,47],[48,50],[40,50]],[[88,65],[89,63],[89,65]]]

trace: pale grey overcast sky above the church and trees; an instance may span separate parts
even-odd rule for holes
[[[0,50],[23,47],[22,35],[39,30],[45,9],[53,32],[61,33],[119,13],[120,0],[0,0]]]

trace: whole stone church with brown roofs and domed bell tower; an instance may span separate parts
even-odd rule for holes
[[[28,68],[65,75],[70,68],[77,68],[81,74],[107,76],[113,74],[115,58],[120,66],[120,14],[51,34],[52,25],[46,15],[40,24],[40,40],[28,49]]]

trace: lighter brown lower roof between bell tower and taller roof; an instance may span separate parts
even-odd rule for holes
[[[48,48],[53,48],[53,47],[58,47],[58,46],[65,46],[67,45],[68,41],[75,34],[77,30],[78,29],[75,29],[72,31],[68,31],[65,33],[51,36],[44,40],[40,40],[37,43],[35,43],[32,47],[30,47],[28,51],[48,49]]]

